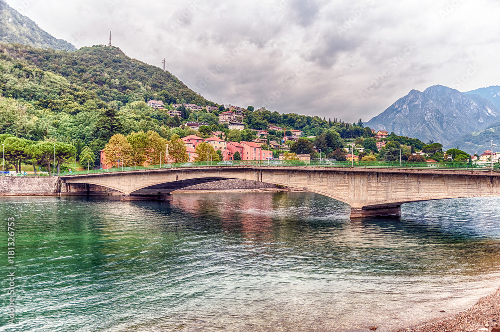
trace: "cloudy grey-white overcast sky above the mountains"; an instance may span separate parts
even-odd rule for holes
[[[217,103],[363,121],[411,89],[500,85],[497,0],[6,0]]]

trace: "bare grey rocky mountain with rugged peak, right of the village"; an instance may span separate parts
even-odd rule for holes
[[[490,100],[434,85],[423,92],[411,90],[365,125],[450,147],[465,133],[482,130],[498,121],[500,111]]]

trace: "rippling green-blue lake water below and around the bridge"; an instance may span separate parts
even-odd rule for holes
[[[500,286],[498,203],[351,221],[310,193],[1,198],[2,267],[16,218],[18,298],[7,325],[0,277],[0,331],[392,331]]]

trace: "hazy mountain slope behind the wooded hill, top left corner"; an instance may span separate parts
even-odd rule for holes
[[[13,42],[41,48],[74,51],[76,48],[65,40],[57,39],[38,25],[0,0],[0,41]]]

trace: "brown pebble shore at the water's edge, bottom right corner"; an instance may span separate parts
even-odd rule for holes
[[[500,288],[453,316],[398,332],[500,332]]]

